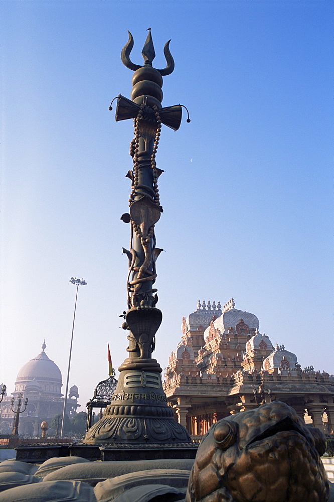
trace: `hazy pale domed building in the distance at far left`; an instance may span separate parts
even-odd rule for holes
[[[45,349],[44,342],[42,352],[20,369],[12,396],[5,396],[0,404],[0,431],[2,433],[12,432],[14,413],[11,409],[11,399],[15,398],[14,410],[16,410],[20,394],[23,394],[23,403],[28,398],[27,408],[20,415],[20,434],[37,436],[41,422],[46,421],[50,424],[56,415],[63,413],[62,374],[57,364],[47,356]],[[80,407],[76,386],[71,387],[69,398],[66,413],[71,416]],[[21,409],[24,409],[24,404]]]

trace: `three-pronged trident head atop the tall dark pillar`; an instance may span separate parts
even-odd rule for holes
[[[130,70],[136,71],[139,68],[141,68],[143,65],[140,66],[140,65],[134,64],[130,60],[130,52],[132,51],[132,47],[133,47],[133,37],[129,31],[128,31],[128,34],[129,34],[129,40],[127,41],[127,43],[124,45],[124,47],[122,49],[121,60],[122,60],[122,63],[126,66],[126,68],[129,68]],[[167,65],[162,70],[157,70],[160,73],[160,75],[162,75],[162,76],[170,75],[173,72],[174,67],[175,67],[174,59],[173,59],[173,56],[170,52],[170,42],[171,42],[170,40],[168,42],[166,42],[164,45],[164,48],[163,48],[163,54],[166,59]],[[150,28],[148,28],[148,35],[147,35],[146,42],[145,42],[145,45],[142,49],[141,54],[144,58],[145,65],[152,66],[152,61],[155,58],[155,52],[154,52]]]

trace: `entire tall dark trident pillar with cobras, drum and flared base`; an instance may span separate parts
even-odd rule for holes
[[[174,60],[165,44],[167,65],[162,70],[152,67],[155,57],[150,29],[142,50],[144,65],[130,61],[133,38],[122,50],[124,65],[134,70],[131,100],[117,97],[116,121],[132,118],[134,139],[130,144],[133,169],[127,174],[131,180],[129,213],[121,219],[131,225],[130,249],[124,249],[129,261],[127,276],[127,312],[124,311],[123,329],[128,331],[128,357],[118,368],[117,388],[104,416],[86,434],[84,443],[93,445],[147,446],[190,444],[187,430],[174,419],[161,385],[161,367],[151,354],[155,346],[162,313],[156,308],[157,295],[153,287],[156,279],[155,262],[162,251],[156,247],[154,225],[160,218],[157,180],[162,173],[156,167],[161,123],[175,131],[182,117],[181,105],[161,107],[162,76],[174,70]],[[116,98],[115,98],[116,99]],[[111,105],[110,105],[110,108]],[[188,118],[188,121],[190,119]]]

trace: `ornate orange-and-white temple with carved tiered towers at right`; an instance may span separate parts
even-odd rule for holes
[[[256,315],[199,301],[182,320],[182,337],[165,370],[163,389],[175,417],[193,436],[230,414],[283,401],[309,425],[334,426],[334,375],[301,369],[284,345],[274,347]]]

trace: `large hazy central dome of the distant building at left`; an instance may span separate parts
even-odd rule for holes
[[[42,347],[46,347],[45,343],[43,343]],[[34,379],[62,383],[62,374],[59,367],[49,359],[44,349],[22,366],[17,376],[17,381]]]

